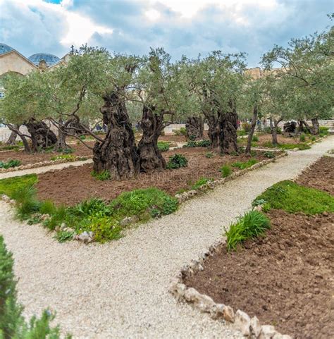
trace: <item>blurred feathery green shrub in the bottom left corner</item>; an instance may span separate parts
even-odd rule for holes
[[[33,316],[27,323],[23,306],[18,303],[16,280],[13,274],[13,256],[0,236],[0,338],[4,339],[58,339],[60,328],[51,327],[54,314],[44,310],[42,317]],[[66,335],[66,338],[71,338]]]

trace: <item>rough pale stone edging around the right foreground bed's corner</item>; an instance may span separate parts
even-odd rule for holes
[[[188,302],[200,312],[207,313],[212,319],[221,319],[233,323],[233,327],[247,338],[256,339],[292,339],[290,335],[283,335],[275,330],[274,326],[261,325],[256,316],[252,318],[240,309],[234,312],[233,308],[225,304],[216,304],[209,295],[199,293],[194,288],[184,284],[187,276],[192,276],[197,271],[203,271],[203,264],[207,258],[219,254],[223,250],[225,240],[217,240],[214,245],[204,251],[197,260],[192,260],[189,265],[183,266],[178,275],[172,279],[169,287],[178,301]]]

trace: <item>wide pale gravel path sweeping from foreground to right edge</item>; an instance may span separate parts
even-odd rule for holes
[[[75,338],[242,338],[175,302],[167,292],[169,281],[266,187],[294,178],[333,142],[328,137],[307,151],[291,152],[105,245],[59,244],[42,227],[14,221],[0,202],[0,233],[16,260],[26,314],[51,306]]]

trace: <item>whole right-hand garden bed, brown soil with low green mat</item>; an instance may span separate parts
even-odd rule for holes
[[[296,181],[326,187],[330,175],[333,178],[333,165],[333,158],[323,158]],[[315,180],[312,172],[324,174]],[[292,338],[330,338],[334,331],[333,196],[285,181],[258,199],[272,207],[266,212],[271,229],[236,250],[219,245],[212,257],[206,257],[204,269],[199,266],[202,270],[194,274],[183,273],[181,282],[188,290],[194,288],[218,304],[241,309]]]

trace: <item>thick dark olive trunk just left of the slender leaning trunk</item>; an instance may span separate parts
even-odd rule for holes
[[[219,151],[221,154],[239,152],[237,146],[237,111],[230,101],[230,111],[219,113]]]

